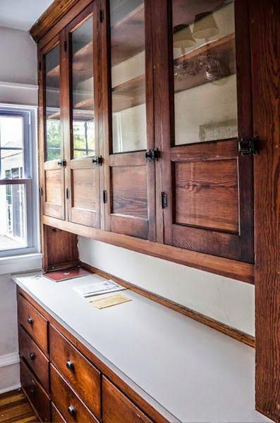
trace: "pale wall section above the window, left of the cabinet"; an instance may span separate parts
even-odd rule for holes
[[[37,104],[37,47],[30,34],[0,27],[0,103]]]

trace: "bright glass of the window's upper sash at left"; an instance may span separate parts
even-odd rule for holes
[[[0,178],[23,178],[23,118],[0,116]]]

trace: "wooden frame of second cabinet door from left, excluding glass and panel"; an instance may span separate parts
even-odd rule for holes
[[[94,72],[94,111],[95,111],[95,156],[101,154],[100,149],[100,136],[99,136],[99,113],[100,109],[100,42],[99,42],[99,16],[98,16],[98,2],[97,0],[92,1],[78,16],[69,23],[63,31],[63,44],[66,46],[63,55],[63,125],[64,125],[64,142],[65,142],[65,155],[66,155],[66,209],[67,209],[67,220],[73,223],[80,223],[85,226],[92,226],[95,228],[100,227],[100,192],[102,190],[102,166],[96,166],[93,164],[93,157],[83,157],[73,159],[73,104],[72,104],[72,55],[71,55],[71,34],[83,23],[92,18],[93,25],[93,72]],[[75,169],[84,170],[87,169],[95,171],[95,212],[88,209],[75,209],[73,205],[73,171]],[[75,213],[75,215],[74,215]]]

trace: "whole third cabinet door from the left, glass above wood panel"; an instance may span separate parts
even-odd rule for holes
[[[145,158],[152,134],[150,2],[110,0],[109,143],[105,147],[106,229],[154,238],[154,163]],[[147,39],[147,37],[150,38]],[[105,47],[106,48],[106,47]],[[147,125],[147,118],[150,125]]]

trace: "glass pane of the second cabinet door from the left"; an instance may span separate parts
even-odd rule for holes
[[[93,21],[72,34],[73,158],[95,155]]]

